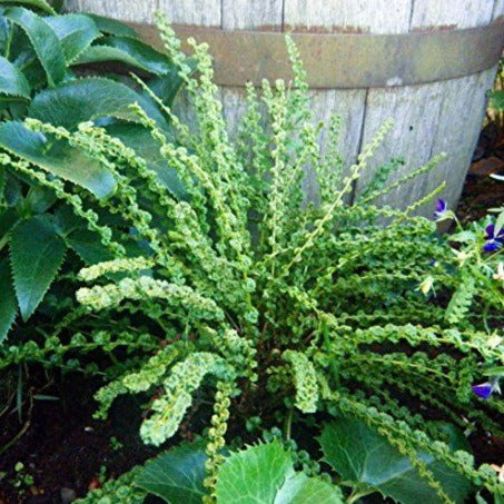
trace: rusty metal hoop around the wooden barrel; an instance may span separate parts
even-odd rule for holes
[[[161,47],[152,26],[132,26]],[[284,33],[174,26],[181,40],[208,42],[215,82],[244,86],[289,79]],[[294,32],[313,89],[407,86],[454,79],[492,68],[504,45],[504,18],[461,30],[402,34]],[[187,46],[186,46],[187,48]]]

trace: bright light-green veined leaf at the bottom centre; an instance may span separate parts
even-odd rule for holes
[[[279,442],[235,453],[219,470],[217,504],[338,504],[338,487],[295,473],[290,453]]]

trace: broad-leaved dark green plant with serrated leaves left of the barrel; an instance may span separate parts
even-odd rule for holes
[[[9,225],[3,228],[0,257],[6,258],[10,248],[12,279],[21,317],[26,320],[58,278],[68,249],[75,250],[85,264],[113,257],[107,254],[109,239],[101,237],[106,243],[103,247],[100,239],[88,231],[89,228],[96,230],[95,209],[103,206],[101,200],[116,190],[117,182],[101,159],[57,132],[33,132],[20,121],[33,117],[73,130],[82,121],[105,120],[126,145],[138,147],[141,144],[144,149],[151,150],[149,130],[139,123],[141,119],[129,107],[139,103],[159,128],[168,131],[167,115],[161,106],[171,103],[182,81],[170,59],[144,43],[128,26],[87,14],[57,14],[43,0],[1,2],[0,55],[0,224]],[[138,90],[137,83],[125,77],[121,69],[117,75],[107,70],[106,77],[99,77],[105,73],[103,69],[90,67],[90,63],[110,61],[140,72],[152,86],[157,86],[155,79],[162,78],[169,82],[170,92],[158,105],[146,91]],[[148,141],[144,144],[146,137]],[[28,165],[22,162],[27,161],[50,175],[47,184],[40,174],[31,177],[23,171],[22,166]],[[18,164],[18,168],[11,162]],[[161,182],[170,190],[184,194],[177,175],[167,169],[160,156],[151,156],[149,167],[155,167]],[[67,182],[86,191],[78,191],[62,205],[57,195],[61,196]],[[79,214],[76,208],[87,198],[87,191],[98,200],[93,210]],[[43,205],[34,200],[41,195]],[[71,229],[67,227],[68,219],[60,219],[61,213],[68,214],[68,206],[77,213]],[[33,246],[39,230],[34,230],[31,240],[23,239],[33,223],[43,223],[43,236],[50,236],[45,249]],[[122,235],[118,239],[128,248],[129,230],[121,224],[120,219],[116,223]],[[3,339],[14,316],[9,295],[12,280],[8,275],[2,275],[1,280],[2,291],[8,293],[0,332]],[[67,299],[61,305],[69,303]]]

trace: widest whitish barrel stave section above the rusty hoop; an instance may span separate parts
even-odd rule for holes
[[[294,30],[401,33],[412,0],[285,0],[284,24]]]

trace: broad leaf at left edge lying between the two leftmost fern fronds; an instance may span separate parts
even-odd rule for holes
[[[0,147],[85,187],[99,198],[116,189],[112,174],[98,161],[65,140],[50,141],[45,135],[30,131],[21,122],[0,123]]]

